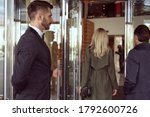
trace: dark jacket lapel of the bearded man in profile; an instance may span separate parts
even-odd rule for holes
[[[28,27],[28,29],[30,32],[34,33],[34,35],[36,35],[36,39],[42,44],[42,46],[44,46],[44,48],[46,49],[46,51],[49,52],[49,48],[47,47],[46,43],[44,42],[44,39],[41,39],[41,37],[39,36],[39,34],[31,27]]]

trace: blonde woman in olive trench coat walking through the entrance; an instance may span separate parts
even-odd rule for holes
[[[92,36],[91,44],[86,50],[84,68],[81,85],[84,87],[88,81],[92,89],[92,95],[87,99],[111,100],[117,94],[113,53],[108,47],[107,31],[103,28],[98,28]]]

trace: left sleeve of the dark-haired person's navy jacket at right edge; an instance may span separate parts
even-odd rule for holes
[[[127,57],[126,78],[124,83],[124,93],[127,95],[132,92],[137,82],[139,64],[137,58],[132,52],[129,52]]]

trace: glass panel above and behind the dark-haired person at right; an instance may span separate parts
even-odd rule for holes
[[[150,2],[148,0],[128,1],[127,9],[126,36],[128,41],[126,50],[128,53],[134,47],[134,29],[140,24],[150,26]]]

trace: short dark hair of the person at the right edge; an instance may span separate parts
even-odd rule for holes
[[[145,25],[139,25],[134,30],[134,35],[136,35],[138,37],[138,40],[140,42],[148,42],[150,39],[150,30]]]

